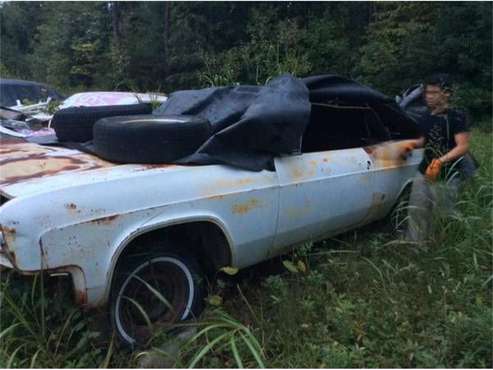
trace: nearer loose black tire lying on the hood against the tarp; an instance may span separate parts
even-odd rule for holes
[[[171,163],[195,152],[210,132],[209,121],[194,116],[111,117],[94,125],[94,151],[118,163]]]

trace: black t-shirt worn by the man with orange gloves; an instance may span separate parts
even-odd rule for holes
[[[469,132],[467,121],[465,112],[458,109],[449,109],[446,114],[427,114],[420,120],[419,125],[425,136],[425,153],[419,165],[421,173],[425,173],[432,159],[440,158],[457,146],[455,135]],[[442,167],[441,177],[455,175],[456,167],[453,162],[448,162]]]

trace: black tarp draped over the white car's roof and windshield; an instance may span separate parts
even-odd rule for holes
[[[311,103],[370,107],[394,137],[417,137],[415,122],[384,94],[355,81],[321,75],[282,75],[265,86],[177,91],[154,114],[197,115],[213,135],[182,164],[228,164],[248,170],[273,168],[273,158],[299,153]],[[344,124],[327,122],[327,125]]]

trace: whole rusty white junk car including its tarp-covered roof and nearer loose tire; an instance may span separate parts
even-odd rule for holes
[[[2,136],[0,265],[68,274],[128,345],[197,316],[223,267],[385,217],[422,157],[395,103],[331,75],[177,92],[92,124],[92,147]]]

